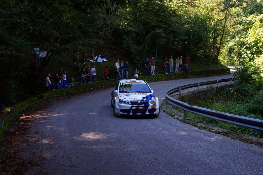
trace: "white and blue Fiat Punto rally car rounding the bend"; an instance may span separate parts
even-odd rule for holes
[[[116,116],[152,115],[160,113],[159,100],[143,80],[119,80],[111,92],[111,106]]]

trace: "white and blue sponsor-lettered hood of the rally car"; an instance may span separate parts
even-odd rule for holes
[[[154,99],[153,93],[127,92],[119,93],[119,98],[123,100],[150,100]]]

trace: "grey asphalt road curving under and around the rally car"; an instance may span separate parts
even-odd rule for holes
[[[231,76],[149,85],[161,104],[172,88]],[[41,167],[26,174],[262,174],[259,146],[200,130],[163,111],[157,118],[117,118],[111,90],[61,98],[43,111],[27,133],[39,140],[27,154],[42,157]]]

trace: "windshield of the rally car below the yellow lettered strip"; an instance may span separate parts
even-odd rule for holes
[[[150,93],[150,88],[146,83],[130,82],[121,83],[119,92],[146,92]]]

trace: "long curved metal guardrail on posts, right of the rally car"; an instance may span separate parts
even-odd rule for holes
[[[170,104],[172,104],[178,108],[183,109],[185,111],[184,117],[186,117],[186,115],[187,115],[186,111],[188,111],[188,112],[192,112],[192,113],[195,113],[197,115],[201,115],[201,116],[211,118],[214,120],[219,120],[222,122],[231,123],[233,125],[238,125],[238,126],[242,126],[242,127],[247,127],[247,128],[252,128],[252,129],[259,130],[259,131],[263,131],[263,121],[262,120],[249,118],[249,117],[243,117],[240,115],[234,115],[234,114],[229,114],[229,113],[224,113],[224,112],[219,112],[219,111],[214,111],[211,109],[201,108],[198,106],[191,106],[187,103],[184,103],[182,101],[179,101],[179,100],[176,100],[176,99],[170,97],[170,95],[172,95],[176,92],[179,92],[179,94],[181,94],[181,90],[183,90],[183,89],[197,87],[199,90],[200,85],[209,85],[209,84],[215,84],[215,83],[217,83],[217,85],[218,85],[218,83],[228,82],[228,81],[232,81],[232,80],[233,80],[232,78],[227,78],[227,79],[216,80],[216,81],[206,81],[206,82],[202,82],[202,83],[184,85],[184,86],[177,87],[177,88],[174,88],[172,90],[169,90],[165,94],[165,99]]]

